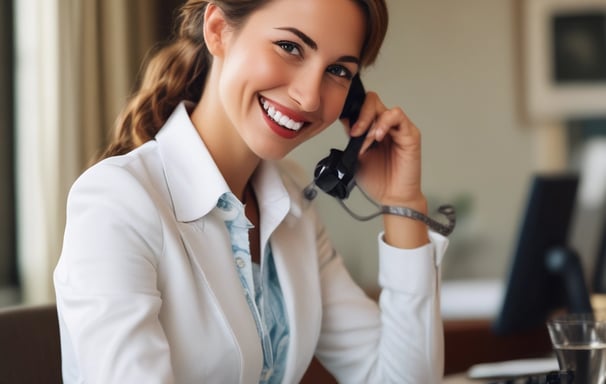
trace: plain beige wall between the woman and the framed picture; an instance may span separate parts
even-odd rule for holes
[[[387,105],[400,105],[423,132],[424,188],[436,204],[471,198],[444,262],[444,278],[502,277],[536,163],[533,130],[519,117],[514,0],[388,0],[391,22],[378,63],[363,78]],[[340,126],[291,156],[309,170]],[[354,277],[376,281],[380,220],[358,223],[318,198]],[[358,202],[353,199],[352,203]]]

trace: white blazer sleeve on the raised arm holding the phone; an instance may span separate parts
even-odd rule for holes
[[[380,306],[353,282],[320,227],[322,329],[316,356],[344,383],[440,383],[439,264],[446,238],[413,250],[379,235]]]

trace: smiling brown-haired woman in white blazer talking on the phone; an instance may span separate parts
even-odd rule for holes
[[[379,304],[350,277],[300,168],[376,59],[383,0],[190,0],[103,158],[74,183],[54,283],[71,382],[439,383],[447,239],[383,218]],[[368,92],[356,180],[423,214],[419,129]],[[376,142],[372,150],[365,151]]]

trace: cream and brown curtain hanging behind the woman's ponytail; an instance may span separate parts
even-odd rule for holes
[[[24,302],[54,300],[52,271],[69,188],[105,145],[146,52],[167,37],[162,35],[170,31],[177,3],[15,3],[17,242]]]

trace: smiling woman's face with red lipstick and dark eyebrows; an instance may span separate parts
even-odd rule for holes
[[[257,156],[282,158],[338,118],[364,32],[352,0],[274,0],[226,33],[220,99]]]

